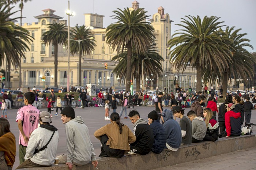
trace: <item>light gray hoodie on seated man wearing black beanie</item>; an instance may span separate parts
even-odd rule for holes
[[[69,120],[65,125],[67,143],[67,162],[85,165],[96,160],[88,127],[81,116]]]

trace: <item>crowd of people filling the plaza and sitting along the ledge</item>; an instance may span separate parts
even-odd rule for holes
[[[182,89],[180,89],[182,91]],[[177,92],[180,92],[177,89]],[[181,100],[185,101],[188,96],[179,94]],[[53,102],[56,104],[56,116],[60,109],[61,120],[65,124],[65,135],[67,153],[57,156],[59,163],[65,163],[71,170],[73,165],[82,166],[89,162],[94,167],[98,165],[93,144],[90,141],[89,129],[84,124],[81,116],[75,116],[72,106],[62,109],[60,96],[52,92],[48,98],[48,111],[40,112],[36,105],[37,92],[26,92],[24,94],[25,106],[19,108],[16,122],[20,131],[19,135],[19,163],[17,169],[27,167],[52,166],[57,156],[59,142],[58,129],[51,125],[51,108]],[[88,106],[87,92],[82,89],[79,95],[81,107]],[[107,95],[109,92],[107,93]],[[94,132],[94,136],[101,142],[101,154],[99,157],[121,158],[124,155],[141,154],[146,155],[150,151],[159,154],[163,149],[178,151],[181,145],[191,145],[202,141],[217,141],[221,137],[240,136],[241,126],[251,120],[253,104],[250,102],[252,96],[246,95],[246,101],[240,95],[226,96],[225,102],[219,110],[216,105],[215,96],[206,96],[202,92],[194,95],[195,100],[190,110],[185,115],[182,104],[175,102],[175,96],[158,92],[154,95],[155,109],[148,113],[148,120],[140,117],[137,110],[131,110],[127,116],[127,107],[138,104],[144,100],[146,106],[149,97],[147,93],[142,95],[136,92],[133,96],[125,94],[109,94],[103,101],[103,94],[98,93],[98,105],[105,106],[105,120],[110,123]],[[140,96],[140,97],[139,97]],[[143,97],[142,97],[143,96]],[[164,96],[167,98],[165,99]],[[69,96],[67,95],[69,99]],[[116,112],[118,100],[121,103],[120,113]],[[170,101],[169,101],[170,100]],[[69,100],[68,100],[69,101]],[[167,101],[167,102],[166,102]],[[6,113],[7,105],[2,100],[3,114]],[[170,103],[170,104],[169,104]],[[95,103],[96,104],[96,103]],[[163,109],[169,106],[169,109]],[[110,107],[113,112],[110,114]],[[131,120],[133,131],[121,121],[124,112],[124,119]],[[218,113],[218,121],[217,121]],[[6,114],[5,114],[6,115]],[[180,119],[180,123],[176,121]],[[16,145],[15,137],[10,131],[10,124],[7,119],[0,118],[0,169],[12,169],[15,162]]]

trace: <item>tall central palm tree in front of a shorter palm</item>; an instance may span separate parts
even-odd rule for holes
[[[106,43],[117,50],[117,54],[127,49],[127,74],[125,90],[130,89],[131,80],[131,58],[132,46],[136,49],[136,53],[142,54],[154,41],[154,28],[146,22],[147,12],[142,8],[130,11],[129,8],[123,11],[119,8],[113,11],[115,15],[113,19],[117,19],[116,23],[110,24],[106,29]]]

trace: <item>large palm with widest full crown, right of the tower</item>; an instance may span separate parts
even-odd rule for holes
[[[231,52],[229,46],[226,44],[229,39],[222,36],[224,33],[217,30],[222,27],[223,22],[218,21],[219,17],[205,16],[203,20],[199,16],[185,16],[181,23],[177,24],[183,29],[182,31],[174,33],[169,41],[170,62],[174,62],[177,70],[184,70],[187,66],[196,68],[196,91],[202,90],[202,76],[205,67],[211,70],[217,68],[223,72],[225,67],[231,63]],[[217,66],[217,67],[213,67]]]

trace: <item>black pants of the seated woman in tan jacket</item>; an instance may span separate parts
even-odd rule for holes
[[[112,148],[109,148],[108,145],[106,145],[109,139],[107,135],[102,135],[100,139],[101,139],[102,147],[101,147],[101,154],[99,154],[99,157],[107,155],[108,157],[121,158],[124,156],[125,150],[112,149]]]

